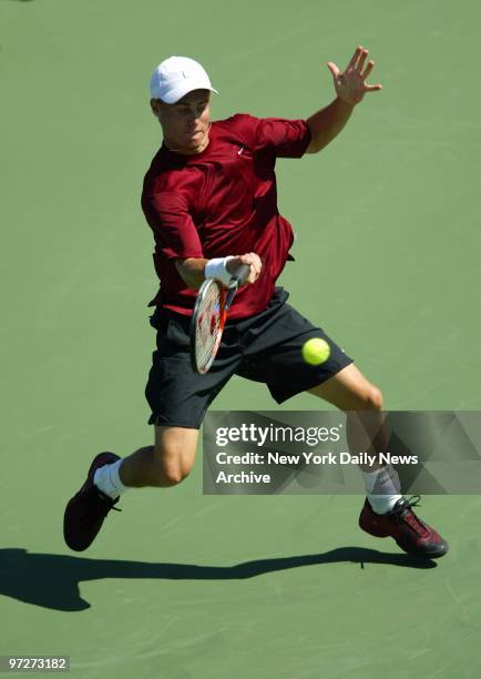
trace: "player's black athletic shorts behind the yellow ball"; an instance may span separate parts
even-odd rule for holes
[[[320,327],[286,304],[287,297],[278,287],[264,312],[227,322],[217,356],[205,375],[192,368],[190,316],[157,307],[151,316],[157,349],[145,387],[152,409],[149,424],[197,429],[233,375],[266,384],[277,403],[283,403],[352,363]],[[329,358],[318,366],[303,361],[301,347],[310,337],[323,337],[330,346]]]

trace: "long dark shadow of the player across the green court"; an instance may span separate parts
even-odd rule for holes
[[[195,566],[191,564],[146,564],[85,559],[55,554],[29,554],[27,549],[0,549],[0,595],[55,610],[84,610],[79,582],[102,578],[162,580],[243,580],[266,572],[351,561],[386,564],[405,568],[434,568],[434,561],[406,554],[385,554],[362,547],[341,547],[325,554],[258,559],[235,566]]]

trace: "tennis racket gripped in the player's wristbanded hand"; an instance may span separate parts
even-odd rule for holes
[[[191,359],[196,373],[206,373],[221,344],[228,307],[239,286],[249,275],[249,266],[237,268],[228,287],[215,278],[202,284],[191,320]]]

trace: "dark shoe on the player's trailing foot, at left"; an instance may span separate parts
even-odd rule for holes
[[[111,509],[122,511],[114,505],[119,498],[112,499],[94,485],[93,477],[99,467],[110,465],[120,459],[114,453],[100,453],[94,457],[86,480],[65,507],[63,516],[63,537],[71,549],[83,551],[91,546],[103,520]]]

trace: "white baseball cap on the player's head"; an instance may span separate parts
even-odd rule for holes
[[[205,69],[188,57],[168,57],[152,73],[152,99],[162,99],[165,103],[176,103],[192,90],[211,90],[218,94],[211,84]]]

